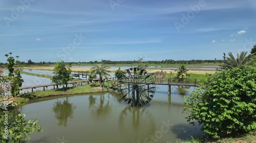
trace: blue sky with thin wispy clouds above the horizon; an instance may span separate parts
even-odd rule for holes
[[[24,62],[214,60],[256,43],[254,0],[1,0],[0,8],[4,63],[8,52]]]

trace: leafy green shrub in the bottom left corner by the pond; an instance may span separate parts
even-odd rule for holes
[[[4,115],[6,115],[6,113],[1,111],[0,115],[1,115],[1,118],[0,118],[1,132],[4,130],[8,130],[7,131],[8,137],[6,137],[7,135],[5,134],[6,132],[1,133],[0,142],[13,142],[13,143],[25,142],[30,140],[30,136],[29,136],[30,133],[42,132],[41,126],[37,125],[37,122],[38,122],[37,120],[33,120],[33,121],[29,120],[28,122],[24,120],[25,114],[22,115],[20,113],[16,114],[13,112],[9,112],[8,122],[4,122],[6,119]]]

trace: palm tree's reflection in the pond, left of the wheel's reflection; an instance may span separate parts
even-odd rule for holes
[[[93,117],[95,117],[96,119],[104,119],[108,115],[110,115],[112,109],[109,100],[110,97],[106,97],[107,99],[105,100],[105,95],[103,93],[101,93],[99,97],[99,104],[96,105],[96,98],[92,95],[89,96],[89,109],[91,110]]]

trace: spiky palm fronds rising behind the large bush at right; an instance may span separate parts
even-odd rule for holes
[[[242,51],[241,54],[237,53],[237,59],[234,58],[231,52],[228,53],[227,60],[225,61],[224,65],[221,65],[223,69],[230,69],[235,67],[241,67],[243,65],[248,65],[251,55],[246,56],[247,52]]]

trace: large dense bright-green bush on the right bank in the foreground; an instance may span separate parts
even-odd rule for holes
[[[256,67],[215,73],[186,98],[187,121],[195,120],[209,136],[220,138],[256,129]]]

